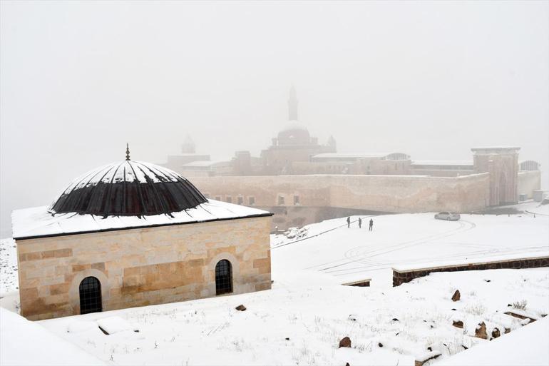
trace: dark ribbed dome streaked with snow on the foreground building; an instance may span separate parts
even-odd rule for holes
[[[52,213],[158,215],[194,208],[206,198],[170,169],[138,161],[112,163],[73,181],[51,204]]]

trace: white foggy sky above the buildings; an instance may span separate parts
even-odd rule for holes
[[[549,171],[549,6],[486,2],[1,2],[0,223],[125,157],[259,156],[299,119],[341,153]]]

